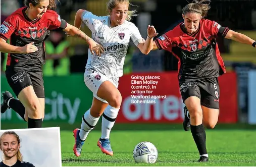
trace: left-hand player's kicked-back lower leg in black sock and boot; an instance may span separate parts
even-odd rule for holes
[[[5,113],[7,109],[12,108],[16,113],[18,113],[21,118],[25,120],[25,107],[20,100],[17,100],[9,91],[5,91],[2,94],[4,102],[1,104],[1,113]],[[26,121],[27,122],[27,121]]]

